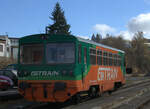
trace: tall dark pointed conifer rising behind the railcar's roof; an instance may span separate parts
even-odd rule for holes
[[[70,25],[67,24],[64,11],[61,9],[58,2],[56,3],[50,19],[53,20],[54,23],[47,27],[48,34],[70,34]]]

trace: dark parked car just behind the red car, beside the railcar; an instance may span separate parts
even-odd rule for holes
[[[9,78],[10,80],[12,80],[13,86],[17,86],[18,84],[17,74],[14,73],[12,70],[6,70],[6,69],[0,70],[0,76]]]

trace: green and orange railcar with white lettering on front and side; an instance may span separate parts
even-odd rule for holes
[[[19,40],[18,90],[29,101],[95,97],[125,84],[125,52],[72,35]]]

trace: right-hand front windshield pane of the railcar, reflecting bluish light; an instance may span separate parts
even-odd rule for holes
[[[48,64],[74,63],[74,43],[50,43],[46,46],[46,60]]]

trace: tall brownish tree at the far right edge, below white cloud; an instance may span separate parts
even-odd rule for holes
[[[131,55],[129,57],[130,61],[132,61],[132,68],[138,73],[150,72],[150,50],[145,42],[143,32],[135,33],[131,41]]]

